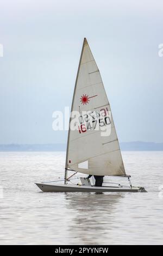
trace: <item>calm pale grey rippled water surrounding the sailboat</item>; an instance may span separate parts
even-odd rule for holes
[[[163,152],[122,155],[148,193],[43,193],[34,182],[62,178],[65,153],[0,153],[0,243],[163,244]]]

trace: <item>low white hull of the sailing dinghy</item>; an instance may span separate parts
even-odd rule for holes
[[[83,185],[49,185],[36,183],[43,192],[147,192],[144,187],[91,187]]]

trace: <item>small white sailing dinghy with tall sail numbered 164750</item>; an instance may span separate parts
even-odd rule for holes
[[[78,113],[76,119],[72,115],[74,112]],[[68,172],[72,172],[70,177]],[[70,181],[77,173],[123,177],[128,179],[129,186],[97,187],[86,177],[80,178],[82,184],[72,184]],[[108,97],[86,38],[73,93],[64,184],[43,182],[36,185],[43,192],[146,192],[144,187],[132,186],[130,175],[125,172]]]

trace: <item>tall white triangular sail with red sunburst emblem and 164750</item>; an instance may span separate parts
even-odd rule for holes
[[[66,169],[92,175],[126,175],[108,97],[86,39],[74,88],[71,113],[74,111],[79,112],[79,123],[76,130],[68,131]],[[103,136],[96,123],[103,128],[110,126],[110,134]]]

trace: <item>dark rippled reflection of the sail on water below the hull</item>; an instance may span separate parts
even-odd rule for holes
[[[82,244],[106,243],[106,236],[111,235],[114,213],[123,194],[67,193],[67,209],[73,210],[69,233],[75,241]],[[75,235],[74,235],[75,234]],[[99,239],[97,239],[99,237]],[[105,242],[103,242],[105,241]]]

